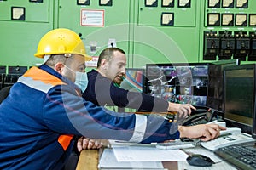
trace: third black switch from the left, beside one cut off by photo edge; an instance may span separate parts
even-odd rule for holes
[[[250,51],[250,38],[246,31],[235,31],[236,48],[234,59],[246,60],[247,54]]]

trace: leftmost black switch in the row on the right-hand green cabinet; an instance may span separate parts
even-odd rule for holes
[[[216,60],[219,52],[219,37],[217,31],[204,32],[204,60]]]

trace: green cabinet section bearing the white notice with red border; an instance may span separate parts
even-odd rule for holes
[[[131,1],[68,1],[58,4],[58,27],[70,28],[83,39],[86,52],[99,55],[103,48],[129,52]]]

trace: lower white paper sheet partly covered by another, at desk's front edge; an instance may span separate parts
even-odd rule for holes
[[[99,162],[100,169],[163,169],[160,161],[117,161],[112,149],[104,149]]]

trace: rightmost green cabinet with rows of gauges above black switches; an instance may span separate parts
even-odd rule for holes
[[[200,36],[201,46],[204,47],[200,50],[202,60],[255,61],[255,9],[256,1],[253,0],[207,0]]]

